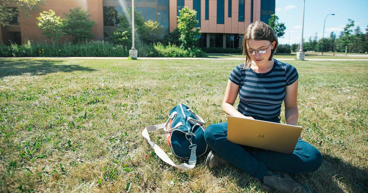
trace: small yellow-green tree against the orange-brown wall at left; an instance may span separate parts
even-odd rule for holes
[[[43,30],[42,34],[51,40],[53,49],[55,49],[55,40],[59,40],[61,36],[65,35],[63,32],[63,19],[60,19],[60,16],[56,16],[53,10],[43,11],[40,13],[40,17],[36,19],[38,28]]]

